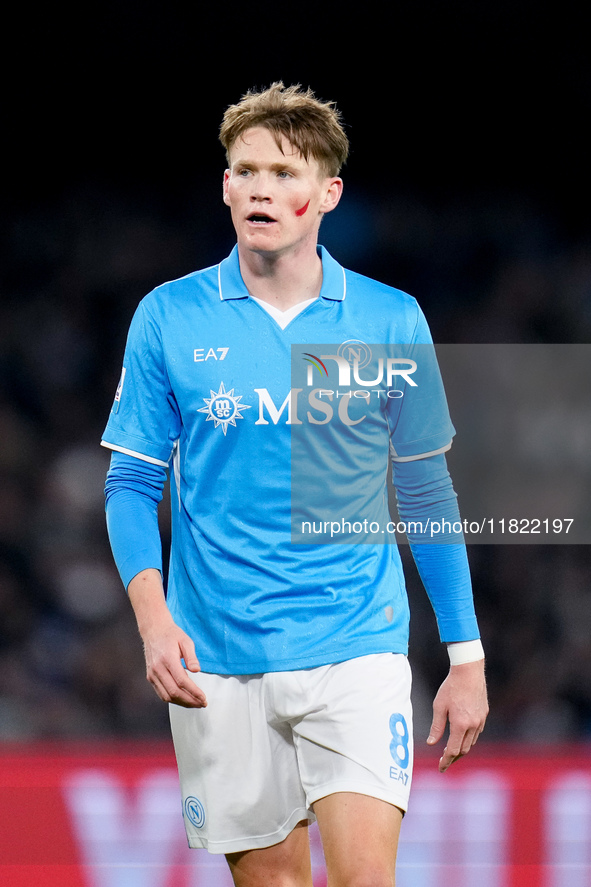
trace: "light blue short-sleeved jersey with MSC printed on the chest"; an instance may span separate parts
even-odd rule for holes
[[[249,296],[237,249],[155,289],[130,328],[103,444],[172,465],[167,602],[204,671],[282,671],[407,652],[397,546],[305,544],[301,497],[292,510],[292,445],[294,472],[303,475],[306,453],[331,447],[342,469],[331,507],[341,512],[343,479],[365,463],[357,486],[369,505],[379,500],[367,514],[379,517],[381,533],[389,451],[399,461],[441,453],[454,431],[437,372],[431,367],[427,385],[422,362],[413,367],[412,348],[431,342],[416,301],[320,254],[320,297],[285,329]],[[412,348],[364,365],[372,343]],[[319,474],[312,458],[310,477]],[[326,538],[310,538],[318,541]]]

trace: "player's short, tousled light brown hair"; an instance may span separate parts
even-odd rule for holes
[[[248,129],[270,130],[279,148],[282,138],[297,148],[304,160],[313,157],[328,176],[339,174],[349,153],[349,140],[334,102],[323,102],[311,89],[272,83],[262,92],[249,90],[236,105],[226,109],[220,141],[226,157]]]

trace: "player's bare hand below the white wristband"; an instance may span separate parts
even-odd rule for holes
[[[449,738],[439,760],[439,770],[467,755],[484,729],[488,715],[484,659],[452,665],[433,702],[433,723],[428,745],[439,742],[449,720]]]

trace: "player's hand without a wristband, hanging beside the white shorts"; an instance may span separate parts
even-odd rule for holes
[[[201,671],[191,638],[171,620],[165,628],[150,632],[143,640],[146,677],[160,699],[184,708],[204,708],[205,693],[187,673]]]

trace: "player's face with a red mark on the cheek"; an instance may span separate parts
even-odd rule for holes
[[[282,149],[268,129],[249,129],[232,146],[224,173],[238,243],[263,254],[315,246],[322,216],[342,192],[341,179],[326,176],[317,160],[304,160],[285,138]]]

